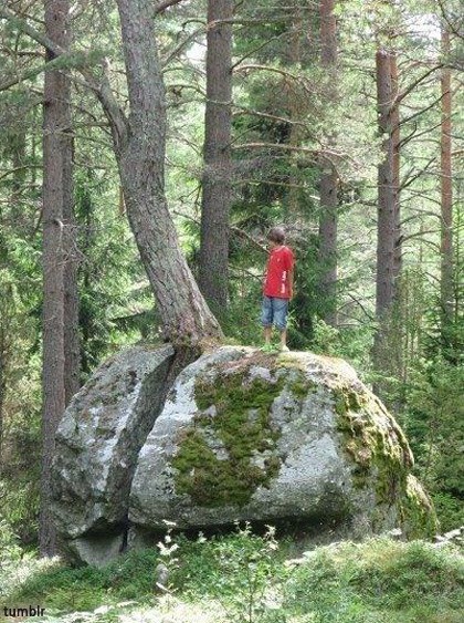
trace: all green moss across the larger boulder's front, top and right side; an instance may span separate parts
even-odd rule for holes
[[[187,494],[198,507],[246,506],[280,474],[286,456],[278,444],[282,423],[306,413],[317,428],[314,409],[331,417],[328,392],[351,482],[359,489],[357,509],[365,512],[368,505],[373,530],[394,520],[412,537],[436,529],[430,500],[411,479],[412,455],[401,428],[362,384],[344,378],[336,363],[336,370],[317,371],[315,377],[306,355],[257,352],[203,368],[194,381],[198,412],[179,430],[170,458],[176,492]],[[277,397],[283,403],[273,411]],[[277,412],[286,414],[283,419]]]

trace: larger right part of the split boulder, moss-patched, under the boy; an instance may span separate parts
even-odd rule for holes
[[[297,521],[344,537],[435,530],[407,439],[341,360],[226,346],[176,381],[140,450],[129,519],[156,530]]]

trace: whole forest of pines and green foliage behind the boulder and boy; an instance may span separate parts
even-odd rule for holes
[[[297,258],[289,346],[356,367],[443,530],[463,523],[460,9],[0,2],[0,518],[24,546],[46,522],[56,418],[93,370],[196,336],[191,301],[220,334],[191,276],[229,341],[261,344],[280,224]]]

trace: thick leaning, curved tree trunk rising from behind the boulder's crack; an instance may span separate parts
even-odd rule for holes
[[[165,195],[166,98],[149,0],[117,0],[130,114],[102,100],[112,123],[129,222],[155,293],[165,336],[197,346],[222,336],[183,257]]]

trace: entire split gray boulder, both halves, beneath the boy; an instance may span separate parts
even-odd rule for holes
[[[223,346],[165,402],[172,354],[120,353],[65,413],[53,509],[77,559],[102,564],[166,521],[289,521],[334,539],[435,530],[403,433],[344,361]]]

